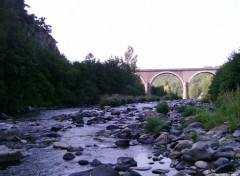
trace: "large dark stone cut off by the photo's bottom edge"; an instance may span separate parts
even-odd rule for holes
[[[73,173],[70,176],[120,176],[117,171],[106,165],[100,165],[94,169]]]

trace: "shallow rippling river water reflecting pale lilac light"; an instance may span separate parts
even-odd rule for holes
[[[144,105],[140,104],[137,107],[142,106]],[[147,106],[152,106],[152,104]],[[37,116],[18,120],[17,125],[21,130],[26,130],[27,133],[34,133],[36,136],[39,134],[39,136],[37,136],[39,139],[35,141],[34,145],[26,145],[26,152],[29,156],[25,157],[18,165],[10,166],[5,170],[0,170],[0,175],[67,176],[71,173],[91,168],[89,165],[80,166],[77,163],[79,160],[85,159],[92,161],[93,159],[98,159],[102,163],[116,163],[117,158],[122,156],[133,157],[137,161],[139,167],[151,166],[152,169],[170,169],[171,171],[166,174],[168,176],[176,173],[175,169],[169,168],[171,161],[168,158],[162,160],[164,164],[160,164],[159,162],[154,162],[153,165],[148,164],[149,162],[152,162],[152,159],[148,158],[149,156],[152,156],[153,151],[150,145],[112,148],[117,139],[97,135],[97,132],[104,130],[109,124],[85,125],[84,127],[79,128],[75,127],[71,121],[64,121],[61,122],[64,125],[64,130],[59,132],[61,134],[60,138],[49,139],[40,137],[44,132],[48,132],[51,126],[56,123],[55,120],[51,119],[52,116],[71,114],[78,111],[79,109],[43,111]],[[39,125],[31,126],[32,123],[38,123]],[[76,156],[76,158],[71,161],[65,161],[62,157],[66,153],[66,150],[54,149],[52,147],[54,141],[61,141],[73,146],[82,146],[85,148],[83,155]],[[90,147],[86,147],[86,145]],[[142,176],[156,175],[152,174],[151,170],[137,172]]]

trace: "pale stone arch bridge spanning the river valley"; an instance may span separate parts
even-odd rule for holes
[[[161,74],[173,74],[177,76],[183,85],[183,99],[189,98],[188,83],[199,73],[215,75],[218,67],[214,68],[172,68],[172,69],[138,69],[136,74],[140,76],[145,85],[145,92],[151,95],[153,80]]]

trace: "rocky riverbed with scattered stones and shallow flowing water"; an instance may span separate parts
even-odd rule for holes
[[[200,100],[169,101],[168,114],[157,102],[121,107],[40,111],[0,116],[0,175],[150,176],[240,175],[240,130],[227,125],[205,129],[184,125],[177,108],[213,109]],[[144,133],[147,118],[166,121],[162,132]]]

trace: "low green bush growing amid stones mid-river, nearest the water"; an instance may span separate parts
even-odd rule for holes
[[[159,119],[156,117],[150,117],[147,119],[147,123],[144,126],[145,133],[159,133],[163,126],[165,125],[165,121],[163,119]]]

